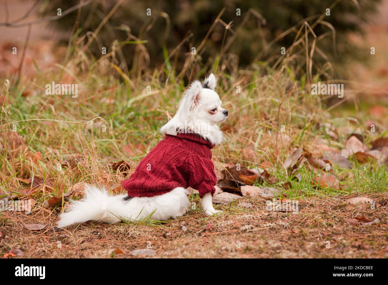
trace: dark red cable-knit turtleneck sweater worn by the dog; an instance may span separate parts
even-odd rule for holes
[[[189,186],[198,190],[201,198],[209,192],[213,195],[217,183],[211,161],[213,147],[196,133],[166,135],[122,185],[131,197],[152,197]]]

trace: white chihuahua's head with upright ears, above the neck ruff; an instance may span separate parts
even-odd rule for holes
[[[210,125],[218,124],[228,117],[228,111],[221,107],[221,100],[214,91],[217,79],[211,73],[201,84],[199,81],[191,83],[182,100],[177,114],[181,120],[201,120]]]

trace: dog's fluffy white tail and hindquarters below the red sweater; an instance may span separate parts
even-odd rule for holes
[[[69,211],[60,215],[57,225],[63,228],[90,220],[114,224],[122,220],[141,221],[147,217],[163,221],[182,216],[190,206],[186,191],[182,187],[154,197],[125,200],[126,197],[126,194],[111,196],[104,188],[86,185],[85,198],[73,201]]]

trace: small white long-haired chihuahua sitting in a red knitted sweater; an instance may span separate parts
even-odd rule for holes
[[[221,143],[217,123],[228,111],[214,91],[215,76],[194,81],[185,91],[175,116],[161,128],[165,134],[132,174],[123,181],[127,194],[111,196],[105,189],[87,185],[85,198],[73,201],[58,221],[59,227],[89,220],[118,223],[145,218],[167,220],[182,216],[190,207],[187,187],[199,191],[201,205],[208,215],[218,214],[211,202],[217,178],[210,149]]]

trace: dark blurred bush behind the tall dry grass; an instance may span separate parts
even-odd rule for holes
[[[52,16],[57,13],[58,8],[64,11],[79,2],[51,0],[43,5],[41,13],[42,16]],[[347,36],[352,32],[363,33],[363,25],[376,13],[376,4],[379,2],[380,0],[124,1],[102,27],[97,40],[90,46],[90,51],[95,57],[100,57],[103,47],[109,52],[114,48],[114,42],[118,41],[116,44],[120,45],[120,68],[128,73],[136,72],[138,74],[133,75],[137,76],[139,71],[141,73],[145,69],[161,67],[167,55],[178,48],[174,57],[169,60],[173,62],[175,70],[180,71],[192,47],[199,47],[210,31],[199,52],[201,62],[214,63],[222,60],[229,65],[229,69],[246,67],[257,62],[272,66],[281,56],[281,48],[288,49],[294,43],[298,30],[302,28],[301,33],[305,33],[302,27],[304,21],[310,26],[314,25],[321,15],[326,14],[326,9],[331,8],[330,16],[325,16],[313,26],[317,36],[313,73],[320,73],[320,68],[331,62],[331,77],[346,77],[346,62],[355,58],[363,59],[369,54],[353,47]],[[68,31],[69,35],[74,29],[78,29],[79,36],[86,35],[83,40],[87,41],[92,36],[90,32],[95,31],[116,3],[112,0],[95,1],[80,11],[73,11],[70,16],[50,22],[49,25]],[[151,16],[147,16],[147,9],[151,9]],[[241,16],[237,15],[237,9],[241,10]],[[211,29],[220,12],[222,22],[217,22]],[[74,19],[79,22],[74,23]],[[144,42],[141,45],[133,44],[139,43],[139,40]],[[311,34],[308,40],[313,40]],[[306,57],[303,45],[298,45],[295,49],[296,57]],[[141,57],[136,56],[139,53],[142,54]],[[302,60],[302,65],[305,63]],[[306,68],[300,69],[302,73],[303,70]],[[301,75],[303,74],[299,74]]]

